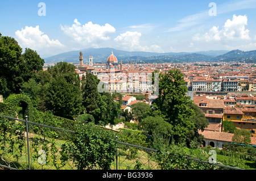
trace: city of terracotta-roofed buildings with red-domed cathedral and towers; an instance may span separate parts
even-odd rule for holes
[[[83,63],[80,52],[80,64],[77,73],[86,77],[86,73],[97,75],[101,82],[108,85],[108,91],[123,94],[122,110],[131,111],[131,105],[138,102],[151,104],[157,98],[152,94],[148,74],[170,69],[180,69],[188,87],[187,96],[199,106],[209,121],[205,131],[201,132],[203,146],[222,148],[232,142],[232,133],[224,132],[222,121],[232,121],[237,129],[246,129],[251,133],[251,145],[256,146],[256,66],[245,62],[188,62],[181,64],[122,64],[111,52],[106,63]],[[144,95],[144,100],[136,100],[130,94]],[[118,100],[116,100],[118,101]],[[131,120],[134,121],[134,120]],[[124,125],[115,125],[120,128]],[[110,127],[109,127],[110,128]]]

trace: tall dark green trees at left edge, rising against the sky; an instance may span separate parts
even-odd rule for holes
[[[14,38],[0,35],[0,94],[5,98],[19,94],[22,84],[34,78],[43,64],[44,60],[36,51],[26,48],[22,54]]]

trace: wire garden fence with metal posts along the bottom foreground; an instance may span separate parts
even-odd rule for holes
[[[0,168],[18,170],[76,170],[72,159],[61,160],[61,145],[75,132],[0,115]],[[116,140],[118,148],[110,169],[159,170],[158,150]],[[169,154],[169,153],[166,153]],[[195,162],[208,161],[185,157]],[[236,167],[214,164],[222,169]],[[94,168],[98,169],[98,168]],[[242,169],[240,169],[242,170]]]

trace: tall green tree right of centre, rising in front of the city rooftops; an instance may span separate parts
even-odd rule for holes
[[[152,110],[172,125],[174,140],[183,142],[195,129],[191,116],[195,114],[188,105],[187,86],[179,69],[159,74],[159,96],[152,102]]]

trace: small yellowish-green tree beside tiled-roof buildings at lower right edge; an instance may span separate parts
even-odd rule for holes
[[[251,142],[251,133],[246,129],[237,129],[234,131],[234,135],[232,137],[232,141],[238,144],[249,145]]]

